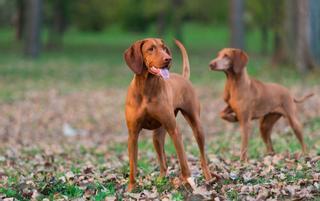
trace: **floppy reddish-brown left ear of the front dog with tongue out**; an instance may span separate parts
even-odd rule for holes
[[[141,52],[141,47],[144,41],[139,40],[131,45],[125,52],[124,52],[124,60],[126,61],[127,65],[135,74],[141,74],[143,71],[143,57]]]

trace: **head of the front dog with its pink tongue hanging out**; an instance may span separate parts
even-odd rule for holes
[[[171,65],[171,52],[158,38],[136,41],[124,52],[127,65],[135,74],[145,71],[167,78]]]

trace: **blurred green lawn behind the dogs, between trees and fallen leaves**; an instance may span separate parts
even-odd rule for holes
[[[46,35],[46,32],[44,33]],[[64,36],[61,50],[47,50],[41,57],[26,59],[22,44],[14,39],[14,30],[0,29],[0,100],[12,101],[23,97],[26,91],[57,88],[62,92],[90,90],[105,87],[126,87],[133,74],[123,61],[123,51],[135,40],[157,37],[153,29],[146,33],[129,33],[114,26],[104,32],[88,33],[70,29]],[[220,86],[223,73],[210,72],[209,61],[219,49],[228,47],[228,29],[225,26],[205,26],[188,23],[184,26],[184,43],[191,62],[191,80],[198,85]],[[45,38],[45,36],[44,36]],[[171,49],[173,35],[163,36]],[[301,76],[293,67],[273,69],[270,56],[258,54],[259,35],[248,32],[250,57],[249,73],[264,81],[285,85],[315,84],[319,73]],[[174,51],[172,70],[181,72],[180,53]],[[220,85],[219,85],[220,84]]]

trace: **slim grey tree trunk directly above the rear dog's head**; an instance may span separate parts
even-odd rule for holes
[[[243,0],[230,1],[231,47],[244,48]]]

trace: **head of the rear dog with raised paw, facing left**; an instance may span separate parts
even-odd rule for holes
[[[211,70],[240,73],[247,63],[248,55],[244,51],[234,48],[225,48],[210,62],[209,66]]]

